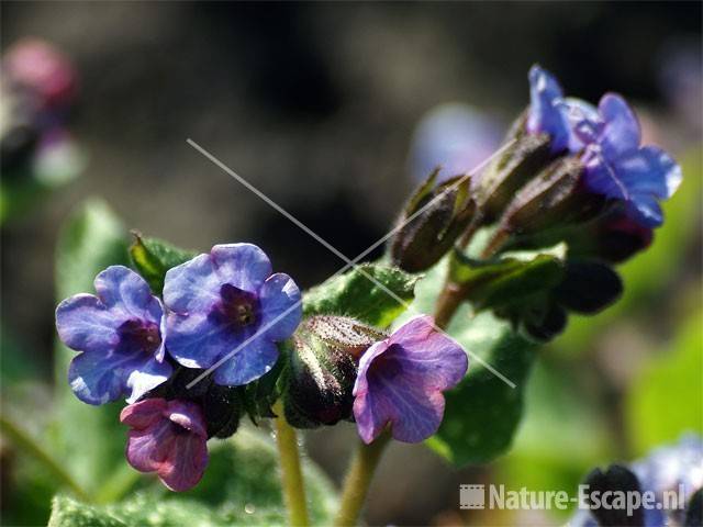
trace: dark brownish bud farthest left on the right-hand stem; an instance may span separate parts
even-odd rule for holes
[[[438,173],[438,169],[432,172],[412,195],[399,220],[404,225],[391,242],[393,264],[409,272],[439,261],[473,216],[469,178],[457,176],[435,184]]]

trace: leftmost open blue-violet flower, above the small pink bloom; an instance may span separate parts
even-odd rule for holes
[[[97,296],[76,294],[56,309],[59,338],[82,351],[70,363],[70,388],[88,404],[126,394],[131,403],[171,373],[165,361],[164,309],[144,279],[126,267],[109,267],[94,285]]]

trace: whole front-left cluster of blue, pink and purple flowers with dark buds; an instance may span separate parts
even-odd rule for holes
[[[322,414],[313,418],[325,424],[352,418],[353,405],[366,442],[387,426],[401,441],[429,437],[442,422],[442,392],[467,370],[466,352],[428,316],[390,336],[335,317],[309,318],[297,332],[302,318],[298,285],[287,274],[272,273],[266,254],[250,244],[216,245],[168,269],[163,284],[163,291],[152,291],[134,270],[109,267],[96,278],[94,295],[76,294],[58,305],[56,327],[60,339],[79,351],[69,368],[75,394],[89,404],[126,397],[121,421],[130,427],[127,461],[155,472],[174,491],[200,481],[208,439],[237,428],[247,396],[239,386],[279,374],[281,368],[274,367],[281,349],[291,355],[287,405],[297,404],[299,413],[317,408]],[[304,357],[311,354],[308,332],[343,326],[342,340],[353,339],[352,346],[342,345],[336,354],[324,348],[321,355],[326,365],[336,361],[335,372],[344,370],[347,382],[341,388]],[[291,350],[284,343],[293,334]],[[331,386],[338,388],[339,397],[330,396]],[[302,427],[310,423],[289,421]]]

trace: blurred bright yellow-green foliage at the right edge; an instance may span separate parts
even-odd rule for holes
[[[676,441],[684,431],[703,434],[703,335],[698,310],[681,325],[661,356],[635,375],[625,400],[625,423],[637,455]]]

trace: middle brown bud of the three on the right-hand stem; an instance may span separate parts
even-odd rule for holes
[[[525,132],[526,116],[526,112],[521,115],[507,135],[507,141],[512,139],[514,144],[488,167],[481,178],[471,183],[471,192],[484,224],[500,217],[515,192],[554,158],[548,134]]]

